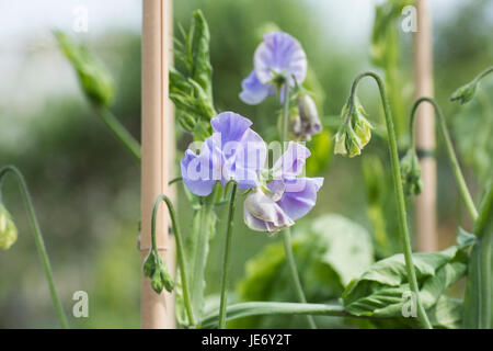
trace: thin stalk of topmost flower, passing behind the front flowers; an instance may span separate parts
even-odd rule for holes
[[[289,116],[289,86],[285,84],[285,94],[284,94],[284,105],[283,105],[283,128],[280,134],[280,144],[283,150],[285,149],[285,143],[287,141],[287,131],[288,131],[288,116]],[[284,229],[280,235],[283,236],[284,242],[284,251],[286,253],[286,261],[289,268],[289,273],[291,275],[291,281],[295,287],[295,293],[300,303],[306,303],[307,298],[305,297],[303,288],[301,285],[301,281],[299,279],[298,269],[296,268],[295,256],[293,254],[293,246],[291,246],[291,230],[290,228]],[[313,317],[307,316],[308,324],[311,329],[317,329],[317,325],[314,324]]]

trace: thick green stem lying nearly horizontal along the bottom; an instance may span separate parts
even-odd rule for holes
[[[249,302],[229,305],[227,308],[227,319],[238,319],[250,316],[265,315],[309,315],[309,316],[334,316],[355,317],[347,314],[341,305],[325,304],[299,304],[299,303],[271,303],[271,302]],[[358,318],[358,317],[355,317]],[[211,313],[200,322],[203,328],[214,328],[217,326],[218,315]]]

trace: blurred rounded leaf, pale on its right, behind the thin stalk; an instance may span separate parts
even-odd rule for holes
[[[371,241],[365,228],[333,214],[299,220],[293,250],[310,303],[339,298],[344,285],[372,262]],[[239,301],[296,301],[280,241],[267,245],[248,261],[245,270],[237,287]],[[234,320],[230,327],[306,327],[305,322],[305,318],[264,316]],[[341,321],[333,319],[324,322],[325,327],[342,327]]]

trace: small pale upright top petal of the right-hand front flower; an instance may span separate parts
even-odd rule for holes
[[[303,145],[289,141],[286,151],[274,163],[274,179],[299,176],[305,166],[305,160],[310,156],[310,150]]]

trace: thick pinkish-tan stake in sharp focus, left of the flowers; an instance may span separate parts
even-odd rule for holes
[[[151,247],[151,213],[156,197],[170,194],[168,185],[174,163],[173,109],[168,100],[168,67],[171,59],[171,0],[142,1],[142,170],[141,240],[142,261]],[[173,240],[168,236],[170,219],[161,206],[157,219],[157,245],[170,269],[174,268]],[[141,287],[142,328],[174,328],[174,301],[158,295],[144,278]]]

